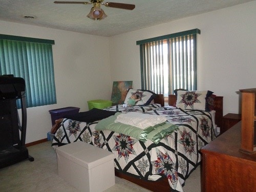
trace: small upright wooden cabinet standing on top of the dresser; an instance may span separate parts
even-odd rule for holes
[[[242,93],[241,151],[256,153],[256,88],[239,90]]]

